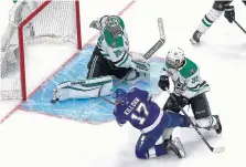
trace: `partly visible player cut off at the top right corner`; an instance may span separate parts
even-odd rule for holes
[[[229,23],[235,19],[234,7],[231,6],[233,0],[224,0],[224,1],[214,1],[212,9],[205,17],[202,19],[199,24],[197,30],[191,38],[191,43],[200,43],[200,38],[210,29],[210,27],[223,14],[228,20]],[[243,3],[246,6],[246,1],[243,0]]]

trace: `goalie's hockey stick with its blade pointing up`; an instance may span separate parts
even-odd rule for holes
[[[143,55],[146,60],[150,59],[153,53],[156,53],[165,42],[165,35],[164,35],[164,25],[161,18],[158,18],[158,28],[160,33],[160,39],[158,42]],[[110,91],[114,92],[128,76],[131,72],[135,70],[130,70]]]

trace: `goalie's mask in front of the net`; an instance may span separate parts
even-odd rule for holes
[[[122,35],[124,30],[117,17],[108,17],[105,24],[106,24],[106,29],[114,38],[118,38],[119,35]]]

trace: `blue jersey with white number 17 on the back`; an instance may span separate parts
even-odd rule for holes
[[[127,93],[126,103],[116,105],[114,115],[119,124],[128,121],[141,131],[156,122],[160,115],[160,107],[149,98],[147,91],[135,87]]]

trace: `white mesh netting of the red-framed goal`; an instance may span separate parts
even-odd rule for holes
[[[1,100],[22,97],[18,25],[45,1],[19,0],[10,11],[10,23],[1,39]],[[76,25],[75,0],[52,0],[23,28],[24,46],[36,42],[77,45]]]

